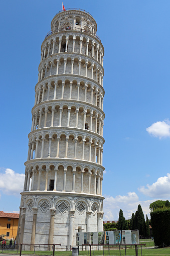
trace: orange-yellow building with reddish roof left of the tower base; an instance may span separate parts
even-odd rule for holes
[[[0,211],[0,236],[5,235],[5,239],[16,239],[19,213],[8,213]]]

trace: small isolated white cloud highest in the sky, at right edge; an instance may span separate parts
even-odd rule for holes
[[[170,137],[170,122],[168,119],[158,121],[146,128],[146,131],[154,137],[159,137],[159,139],[163,137]]]

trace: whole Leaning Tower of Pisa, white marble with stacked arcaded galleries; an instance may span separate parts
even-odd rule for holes
[[[18,241],[75,245],[103,230],[103,55],[83,10],[59,12],[41,46]]]

